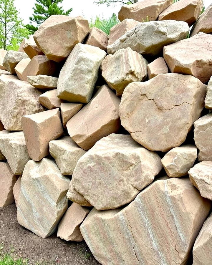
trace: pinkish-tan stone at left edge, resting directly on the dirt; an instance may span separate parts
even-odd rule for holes
[[[16,175],[13,174],[8,163],[0,162],[0,208],[14,203],[13,186],[16,182]]]

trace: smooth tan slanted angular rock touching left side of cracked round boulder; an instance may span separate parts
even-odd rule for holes
[[[102,104],[104,99],[104,104]],[[82,149],[89,150],[100,140],[120,128],[120,99],[103,85],[94,98],[66,124],[72,140]]]

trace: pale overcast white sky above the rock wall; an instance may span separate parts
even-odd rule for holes
[[[70,16],[82,15],[87,19],[91,19],[91,17],[95,18],[97,15],[100,17],[108,18],[114,12],[118,14],[120,10],[121,4],[115,4],[115,6],[106,5],[97,5],[94,4],[95,0],[64,0],[62,3],[63,9],[67,10],[69,8],[73,8],[73,11],[70,13]],[[140,0],[142,1],[142,0]],[[205,7],[208,7],[211,4],[212,0],[203,0]],[[15,0],[16,8],[20,12],[20,17],[24,19],[24,23],[29,23],[29,16],[32,15],[35,0]]]

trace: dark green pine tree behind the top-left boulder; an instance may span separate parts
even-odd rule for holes
[[[36,0],[35,7],[33,8],[34,14],[29,18],[30,24],[26,25],[26,28],[31,34],[38,29],[38,26],[42,24],[49,16],[52,15],[66,15],[68,16],[72,11],[72,8],[64,11],[58,4],[62,3],[63,0]],[[35,23],[34,26],[32,23]]]

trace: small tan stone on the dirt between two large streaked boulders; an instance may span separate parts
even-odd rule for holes
[[[89,209],[72,203],[59,223],[57,236],[66,241],[83,241],[80,225],[89,212]]]

